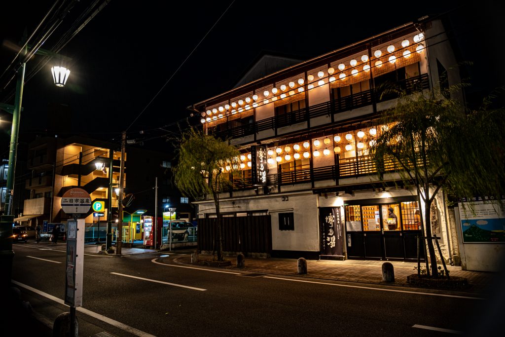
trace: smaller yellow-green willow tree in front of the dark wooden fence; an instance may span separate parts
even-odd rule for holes
[[[222,173],[225,168],[228,171],[237,169],[239,152],[228,141],[192,128],[182,134],[178,151],[178,163],[173,169],[175,184],[183,194],[193,198],[212,195],[218,227],[215,247],[218,260],[223,261],[219,193],[230,185],[228,179],[223,179]]]

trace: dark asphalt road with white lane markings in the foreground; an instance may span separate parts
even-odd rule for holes
[[[37,317],[52,324],[69,311],[63,305],[65,245],[14,244],[13,250],[13,281]],[[160,258],[166,254],[86,255],[79,335],[474,335],[483,323],[479,312],[488,310],[485,300],[468,294],[250,277],[178,265],[173,259],[183,251]]]

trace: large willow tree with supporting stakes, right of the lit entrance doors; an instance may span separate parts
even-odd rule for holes
[[[447,95],[446,95],[447,96]],[[456,198],[503,194],[505,177],[504,110],[489,101],[471,110],[456,100],[418,92],[402,94],[395,108],[384,113],[381,134],[370,149],[379,176],[395,172],[415,185],[424,202],[426,236],[431,237],[430,207],[443,188]],[[437,277],[435,251],[427,240],[432,275]],[[443,258],[443,257],[440,257]]]

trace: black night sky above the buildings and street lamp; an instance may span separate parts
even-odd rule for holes
[[[53,3],[16,2],[2,8],[2,19],[6,13],[10,15],[0,21],[1,72],[14,57],[6,46],[9,41],[17,43],[25,26],[30,34]],[[89,3],[76,3],[42,47],[54,46]],[[493,64],[490,61],[498,64],[503,55],[503,47],[498,46],[504,38],[497,2],[481,1],[478,7],[461,7],[458,1],[423,1],[415,6],[408,2],[294,4],[298,3],[236,0],[178,2],[174,6],[173,2],[112,0],[61,50],[60,54],[73,59],[68,63],[71,74],[64,88],[53,84],[51,63],[25,83],[20,141],[55,131],[60,136],[84,133],[115,141],[125,129],[129,138],[138,139],[159,137],[167,134],[165,130],[177,133],[176,122],[187,125],[187,106],[231,89],[262,53],[307,60],[422,16],[445,12],[455,28],[452,35],[459,58],[474,62],[468,72],[479,83],[473,89],[475,94],[483,92],[484,86],[503,82],[497,79],[498,72],[480,70]],[[27,62],[27,71],[37,60],[35,56]],[[0,79],[2,88],[9,75],[12,71]],[[0,92],[0,102],[13,104],[13,99],[7,100],[13,89],[14,81]],[[69,106],[71,125],[58,129],[48,123],[48,105],[54,104]],[[9,121],[10,116],[0,113],[2,120]],[[198,124],[199,117],[189,118],[189,122]],[[9,122],[0,124],[3,156],[8,153],[9,140],[4,139],[10,127]],[[145,146],[150,143],[146,140]]]

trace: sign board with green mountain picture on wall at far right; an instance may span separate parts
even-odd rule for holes
[[[464,243],[505,243],[505,204],[464,202],[459,210]]]

